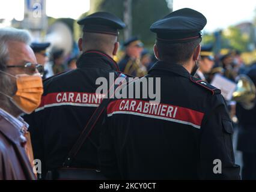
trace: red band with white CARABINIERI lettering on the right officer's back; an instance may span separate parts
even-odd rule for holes
[[[163,119],[201,128],[204,113],[170,104],[151,104],[141,100],[116,100],[112,101],[107,109],[108,116],[115,114],[130,114],[146,118]]]

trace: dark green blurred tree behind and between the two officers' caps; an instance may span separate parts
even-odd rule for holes
[[[91,0],[91,10],[82,17],[96,11],[108,11],[123,19],[123,0]],[[146,46],[152,46],[155,35],[150,32],[150,25],[170,13],[166,0],[132,1],[132,35],[137,35]],[[77,28],[77,27],[76,27]],[[123,41],[123,32],[120,32]]]

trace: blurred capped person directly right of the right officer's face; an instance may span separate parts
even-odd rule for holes
[[[200,67],[198,68],[197,73],[195,74],[195,77],[197,77],[200,80],[203,80],[204,82],[207,82],[206,75],[210,73],[214,65],[212,46],[201,47],[199,63],[200,63]]]

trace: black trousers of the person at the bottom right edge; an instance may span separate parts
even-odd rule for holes
[[[243,180],[256,180],[256,153],[243,152]]]

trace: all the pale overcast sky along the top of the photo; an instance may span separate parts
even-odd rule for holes
[[[0,19],[23,19],[24,0],[0,0],[0,5]],[[256,0],[173,0],[174,10],[184,7],[193,8],[203,13],[207,18],[206,31],[214,31],[240,22],[252,21]],[[55,18],[71,17],[78,19],[89,8],[90,0],[46,1],[47,16]]]

